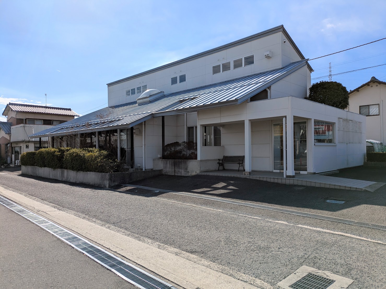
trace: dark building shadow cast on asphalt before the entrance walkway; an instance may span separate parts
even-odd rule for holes
[[[353,178],[353,175],[372,176],[373,181],[386,182],[386,169],[382,171],[367,171],[362,168],[342,172],[344,177]],[[335,176],[335,175],[334,175]],[[343,177],[343,176],[342,176]],[[377,179],[378,178],[378,179]],[[300,185],[284,185],[261,180],[244,179],[239,177],[224,177],[212,175],[195,175],[191,177],[162,175],[137,182],[134,185],[143,185],[157,189],[191,192],[195,194],[212,195],[228,199],[256,202],[259,204],[279,205],[293,208],[307,208],[327,212],[337,212],[360,205],[386,205],[386,186],[375,192],[354,190],[327,189],[320,187],[305,187]],[[141,194],[141,189],[134,188],[128,192]],[[163,192],[143,192],[147,196],[162,195]],[[341,200],[344,204],[326,202],[327,200]],[[370,212],[369,212],[370,213]],[[375,212],[374,212],[375,213]]]

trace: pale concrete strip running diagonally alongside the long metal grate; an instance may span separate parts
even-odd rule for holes
[[[137,241],[131,237],[108,230],[105,227],[93,224],[2,187],[0,187],[0,194],[46,219],[86,237],[98,245],[121,254],[127,259],[183,288],[273,288],[266,282],[249,276],[256,285],[252,286],[251,284],[237,280],[181,256],[176,256],[170,252],[150,246],[149,244]]]

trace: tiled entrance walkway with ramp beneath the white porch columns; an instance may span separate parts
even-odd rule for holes
[[[374,192],[385,183],[369,182],[367,180],[355,180],[332,177],[330,175],[295,174],[295,178],[284,178],[283,173],[252,171],[250,175],[243,175],[237,170],[214,170],[201,172],[200,175],[222,175],[230,177],[244,177],[248,179],[265,180],[280,184],[308,185],[311,187],[323,187],[345,190],[362,190]]]

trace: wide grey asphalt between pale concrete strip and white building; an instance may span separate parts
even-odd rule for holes
[[[363,198],[359,204],[352,200],[353,205],[344,209],[323,209],[323,200],[322,207],[318,208],[321,195],[342,194],[347,198],[356,192],[323,192],[322,188],[318,188],[312,199],[309,194],[313,194],[313,189],[310,188],[293,190],[281,184],[267,185],[267,182],[257,180],[248,180],[246,183],[243,181],[245,180],[240,178],[208,178],[197,175],[189,178],[152,178],[137,184],[149,187],[163,184],[163,189],[171,190],[188,188],[185,191],[191,191],[190,186],[195,184],[195,192],[210,189],[212,194],[225,197],[230,195],[222,194],[230,192],[221,190],[240,190],[239,200],[251,199],[251,195],[254,195],[260,199],[248,201],[264,204],[273,202],[269,197],[272,194],[276,196],[276,204],[271,205],[290,208],[293,208],[292,204],[303,195],[306,199],[313,200],[316,205],[309,205],[308,208],[298,205],[298,209],[315,210],[316,206],[316,210],[322,210],[323,214],[340,215],[349,215],[352,211],[353,216],[361,218],[361,215],[367,215],[371,212],[370,209],[375,208],[373,215],[376,216],[370,216],[365,221],[384,221],[384,215],[378,216],[384,212],[384,205],[376,204],[371,198]],[[317,227],[386,242],[384,231],[137,188],[128,192],[117,192],[33,179],[15,173],[1,174],[0,184],[65,210],[93,218],[94,222],[99,224],[113,225],[138,239],[145,237],[175,247],[256,277],[273,286],[300,266],[306,265],[353,279],[354,283],[349,289],[385,288],[385,245],[300,226]],[[209,187],[210,184],[212,187]],[[285,193],[288,190],[289,193]],[[277,192],[281,192],[281,198]],[[369,202],[372,203],[368,204]],[[328,206],[330,205],[328,203]],[[362,205],[364,207],[357,210]]]

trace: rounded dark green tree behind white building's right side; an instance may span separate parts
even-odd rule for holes
[[[338,109],[346,109],[349,105],[349,92],[339,82],[320,81],[311,85],[310,94],[306,99],[327,104]]]

